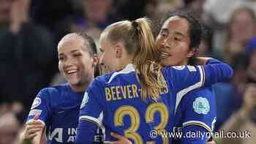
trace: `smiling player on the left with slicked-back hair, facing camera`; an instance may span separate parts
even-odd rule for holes
[[[42,129],[46,130],[47,143],[74,143],[80,103],[94,79],[97,49],[88,35],[72,33],[61,39],[58,53],[59,70],[67,83],[39,91],[20,136],[22,143],[39,143],[45,137]]]

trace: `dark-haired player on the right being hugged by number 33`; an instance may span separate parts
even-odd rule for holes
[[[200,45],[203,32],[200,23],[188,12],[170,12],[162,19],[161,25],[162,28],[156,39],[157,48],[167,53],[161,63],[165,67],[195,65],[195,51]],[[176,102],[175,132],[182,132],[183,136],[189,132],[200,132],[204,136],[179,137],[174,143],[205,144],[208,140],[206,132],[214,130],[216,121],[215,96],[211,87],[198,88],[188,94],[177,96]],[[199,108],[197,103],[203,107]],[[117,135],[117,137],[121,136]],[[122,140],[121,143],[127,141],[124,137],[119,139]]]

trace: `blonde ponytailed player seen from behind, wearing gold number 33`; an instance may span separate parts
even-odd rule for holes
[[[233,75],[223,63],[162,69],[154,62],[160,52],[145,18],[113,23],[99,43],[102,61],[116,72],[94,79],[84,94],[76,143],[92,143],[102,123],[106,140],[117,132],[133,143],[169,143],[159,135],[173,128],[176,95]]]

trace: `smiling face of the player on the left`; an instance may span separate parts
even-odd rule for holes
[[[59,71],[72,88],[87,86],[94,78],[94,59],[89,50],[76,34],[68,34],[59,42]]]

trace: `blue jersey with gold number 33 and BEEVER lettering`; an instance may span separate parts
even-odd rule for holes
[[[222,64],[206,67],[167,67],[162,73],[167,82],[167,89],[162,90],[158,102],[152,102],[150,99],[144,102],[140,99],[140,84],[132,64],[128,64],[119,72],[97,77],[84,94],[80,122],[103,124],[105,138],[110,141],[114,140],[110,132],[117,132],[135,144],[171,143],[168,137],[162,137],[161,134],[173,130],[176,96],[187,94],[203,85],[210,86],[211,83],[229,80],[233,70]],[[77,142],[91,143],[89,134],[93,133],[94,129],[81,129],[83,132],[79,132],[80,126],[78,125]],[[157,135],[152,136],[151,132],[157,132]],[[83,137],[83,134],[88,137]]]

